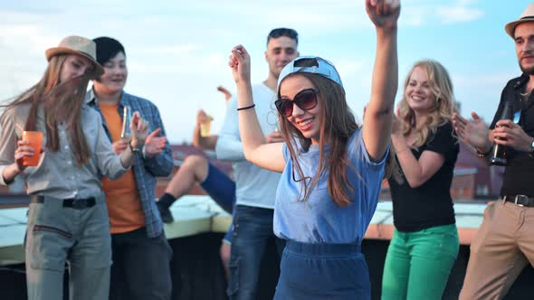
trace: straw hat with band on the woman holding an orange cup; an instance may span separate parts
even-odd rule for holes
[[[104,73],[104,68],[102,68],[100,63],[96,60],[96,43],[81,36],[67,36],[57,47],[48,49],[44,54],[46,55],[47,61],[50,61],[52,57],[58,54],[80,55],[94,63],[94,72],[92,74],[94,78],[97,78]]]

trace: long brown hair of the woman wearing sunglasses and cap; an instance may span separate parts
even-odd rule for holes
[[[293,168],[296,168],[300,175],[300,201],[306,201],[310,196],[310,191],[317,186],[319,178],[327,168],[329,170],[328,190],[333,202],[339,206],[347,206],[351,201],[349,194],[354,192],[348,183],[347,167],[354,168],[348,161],[347,144],[348,139],[358,127],[358,123],[345,98],[345,89],[338,84],[323,78],[320,75],[295,72],[290,76],[303,76],[310,80],[313,86],[319,90],[318,106],[320,108],[320,129],[319,129],[319,165],[317,173],[313,177],[304,176],[297,159],[296,145],[300,144],[304,151],[308,151],[311,139],[304,137],[300,130],[293,127],[286,117],[279,114],[281,133],[291,154]],[[279,92],[280,94],[280,92]],[[280,95],[279,95],[280,97]],[[325,153],[325,145],[329,145],[329,151]],[[294,173],[294,169],[292,170]],[[310,180],[308,183],[307,180]],[[303,194],[302,194],[303,192]]]

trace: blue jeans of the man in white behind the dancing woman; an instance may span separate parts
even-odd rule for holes
[[[227,294],[230,299],[253,300],[263,252],[268,239],[276,240],[279,255],[284,240],[274,236],[272,231],[273,210],[236,205],[234,210],[234,233],[230,254],[230,280]]]

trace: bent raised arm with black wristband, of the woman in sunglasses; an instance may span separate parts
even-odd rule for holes
[[[246,160],[264,169],[282,172],[285,160],[282,143],[266,144],[262,127],[253,108],[253,89],[250,76],[250,56],[243,46],[234,47],[228,62],[237,87],[239,132]]]

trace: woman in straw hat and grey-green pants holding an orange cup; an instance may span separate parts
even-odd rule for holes
[[[100,176],[116,179],[129,169],[148,123],[134,113],[129,148],[115,155],[100,115],[84,105],[89,80],[103,73],[95,58],[91,40],[64,38],[46,51],[43,78],[0,117],[0,184],[22,176],[31,199],[24,240],[30,300],[63,299],[65,263],[70,299],[108,298],[110,222]],[[42,153],[21,139],[26,131],[41,132]]]

